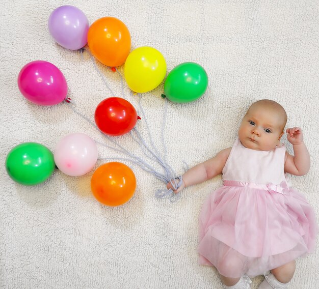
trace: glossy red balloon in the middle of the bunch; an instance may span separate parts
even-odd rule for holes
[[[102,100],[95,109],[97,127],[107,135],[117,136],[129,132],[138,120],[137,112],[127,100],[109,97]]]

